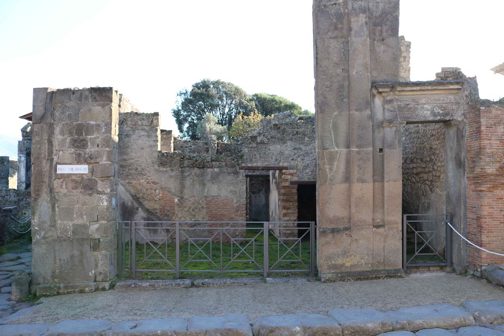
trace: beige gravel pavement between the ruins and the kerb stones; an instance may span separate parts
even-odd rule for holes
[[[214,288],[108,291],[43,299],[11,323],[55,323],[102,318],[114,322],[243,313],[249,319],[296,312],[327,314],[333,308],[392,310],[466,300],[504,300],[504,289],[479,279],[426,273],[405,279],[322,284],[287,283]]]

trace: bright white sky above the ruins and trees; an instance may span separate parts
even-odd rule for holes
[[[0,0],[0,156],[16,159],[35,87],[112,86],[174,129],[177,92],[208,78],[314,111],[311,0]],[[402,0],[411,80],[442,66],[504,96],[503,0]]]

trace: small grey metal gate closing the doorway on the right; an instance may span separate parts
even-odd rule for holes
[[[403,268],[451,265],[448,214],[403,215]]]

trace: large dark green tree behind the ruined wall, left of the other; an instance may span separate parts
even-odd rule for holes
[[[220,80],[202,80],[193,84],[191,91],[180,91],[177,97],[177,107],[171,113],[180,135],[188,140],[200,140],[198,122],[207,113],[214,115],[217,123],[229,130],[238,114],[249,115],[256,109],[245,91]]]

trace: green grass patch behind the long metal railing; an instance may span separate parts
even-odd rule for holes
[[[210,237],[196,238],[196,235],[202,236],[201,231],[199,233],[192,230],[184,232],[190,238],[181,234],[180,278],[209,279],[263,276],[261,270],[264,264],[264,233],[261,224],[249,224],[245,237],[234,238],[232,243],[225,234],[223,234],[223,242],[221,243],[220,232],[216,229],[208,230],[208,233],[212,236],[217,233],[213,239],[210,239]],[[279,271],[271,272],[270,276],[306,276],[309,274],[309,233],[299,242],[297,238],[282,239],[280,241],[270,232],[268,241],[270,270]],[[125,260],[129,260],[131,252],[129,246],[125,248],[124,252]],[[163,257],[166,257],[167,261]],[[173,240],[151,239],[150,242],[137,242],[137,279],[175,279],[175,264],[176,245]],[[148,270],[166,271],[155,272]],[[209,270],[216,272],[208,272]],[[301,270],[302,272],[289,272],[289,270]],[[130,278],[130,272],[125,272],[123,277]]]

